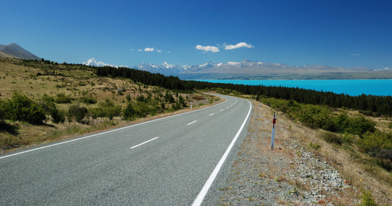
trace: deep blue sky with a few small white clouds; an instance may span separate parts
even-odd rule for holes
[[[381,69],[392,67],[391,9],[392,1],[12,0],[1,3],[0,44],[128,67],[249,59]]]

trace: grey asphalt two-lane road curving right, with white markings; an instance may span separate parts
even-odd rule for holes
[[[252,111],[247,100],[224,98],[197,111],[1,155],[0,205],[206,205]]]

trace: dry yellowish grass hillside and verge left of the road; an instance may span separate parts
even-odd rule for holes
[[[37,74],[40,73],[42,75]],[[143,94],[152,93],[159,95],[166,90],[158,87],[148,87],[144,84],[132,82],[121,78],[98,77],[94,69],[81,65],[58,65],[47,64],[45,62],[25,62],[14,58],[0,58],[0,95],[2,99],[11,98],[14,91],[19,91],[34,101],[39,101],[45,93],[56,98],[56,94],[65,93],[73,98],[73,104],[79,102],[79,98],[86,96],[103,102],[106,99],[111,100],[114,104],[125,108],[127,104],[126,96],[130,95],[132,100]],[[125,90],[118,93],[117,89]],[[173,93],[173,92],[171,92]],[[180,94],[192,100],[194,108],[199,104],[209,104],[210,97],[204,95],[202,100],[194,100],[194,96],[200,96],[199,93]],[[174,96],[174,93],[173,93]],[[86,108],[97,107],[98,104],[84,104]],[[56,104],[57,108],[64,113],[71,104]],[[169,107],[170,105],[167,105]],[[187,110],[184,108],[183,110]],[[168,115],[173,111],[162,111],[158,116]],[[181,111],[177,111],[181,112]],[[151,116],[147,116],[151,118]],[[84,133],[90,133],[97,130],[103,130],[130,124],[121,120],[120,117],[114,117],[112,121],[106,118],[98,118],[89,125],[79,124],[77,122],[53,124],[48,116],[46,124],[32,125],[25,122],[13,123],[5,120],[6,124],[0,125],[0,153],[9,152],[15,148],[25,146],[34,146],[42,142],[58,141],[69,137],[75,137]],[[136,119],[136,121],[141,121]],[[6,145],[6,146],[5,146]]]

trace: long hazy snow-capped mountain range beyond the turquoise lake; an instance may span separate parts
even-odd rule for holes
[[[289,66],[282,63],[243,60],[241,62],[206,62],[203,65],[160,65],[141,63],[134,69],[178,76],[188,80],[248,79],[385,79],[392,78],[392,69],[367,67],[332,67],[326,65]]]

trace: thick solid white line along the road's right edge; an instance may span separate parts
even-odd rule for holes
[[[247,102],[249,102],[249,101],[247,101]],[[195,199],[195,201],[193,201],[192,206],[199,206],[199,205],[201,205],[201,203],[203,202],[204,197],[206,196],[208,190],[210,190],[212,182],[217,177],[217,174],[218,174],[219,170],[221,170],[221,167],[222,167],[223,163],[225,162],[225,159],[228,157],[230,150],[232,150],[232,147],[234,146],[234,143],[238,139],[238,136],[240,135],[241,131],[243,130],[243,128],[244,128],[244,126],[245,126],[245,124],[247,122],[247,119],[248,119],[248,117],[250,115],[250,112],[252,111],[252,103],[249,102],[249,105],[250,105],[249,112],[247,113],[247,116],[246,116],[243,124],[241,125],[241,128],[236,133],[236,136],[234,136],[234,139],[230,143],[230,146],[226,150],[225,154],[223,154],[223,156],[221,157],[221,160],[219,160],[219,163],[215,167],[214,171],[212,171],[212,173],[210,174],[210,177],[208,178],[208,180],[204,184],[203,188],[199,192],[199,195],[197,195],[197,198]]]

